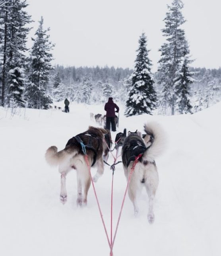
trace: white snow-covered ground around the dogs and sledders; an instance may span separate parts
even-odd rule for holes
[[[60,103],[63,107],[63,103]],[[57,104],[59,106],[59,104]],[[92,187],[87,207],[76,206],[76,173],[67,177],[68,201],[59,200],[60,174],[45,162],[51,145],[63,149],[68,139],[94,125],[89,113],[103,106],[71,104],[62,111],[0,108],[0,255],[105,256],[109,245]],[[118,131],[142,131],[157,120],[167,134],[167,150],[156,159],[159,188],[155,222],[147,221],[147,194],[140,195],[134,217],[126,197],[114,244],[114,256],[221,255],[221,103],[194,115],[124,117]],[[115,138],[116,133],[112,133]],[[113,159],[109,157],[109,163]],[[95,169],[92,168],[92,174]],[[95,184],[110,234],[112,172]],[[121,164],[114,174],[114,225],[126,188]]]

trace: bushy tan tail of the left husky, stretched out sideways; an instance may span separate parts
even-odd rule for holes
[[[45,159],[47,163],[51,166],[57,166],[58,164],[72,158],[74,155],[78,153],[77,150],[74,152],[68,152],[67,150],[60,150],[56,146],[51,146],[47,149],[45,153]]]

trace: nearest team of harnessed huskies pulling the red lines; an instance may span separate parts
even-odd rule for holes
[[[128,196],[134,206],[134,214],[138,214],[138,195],[145,187],[149,197],[149,209],[147,219],[153,223],[153,199],[159,183],[155,157],[163,151],[164,136],[163,130],[158,123],[151,122],[144,125],[144,134],[141,132],[118,133],[115,138],[115,148],[118,154],[120,147],[124,174],[128,180],[133,163],[138,155],[139,158],[132,173],[128,186]],[[96,167],[97,172],[93,176],[93,182],[102,176],[104,162],[107,161],[109,150],[112,146],[112,139],[109,129],[89,126],[87,131],[80,133],[67,142],[63,150],[58,151],[56,146],[47,149],[45,158],[51,166],[58,166],[61,175],[60,201],[66,203],[66,176],[70,170],[77,173],[77,205],[87,204],[87,193],[91,185],[91,179],[87,163],[85,162],[82,146],[85,146],[89,166]]]

